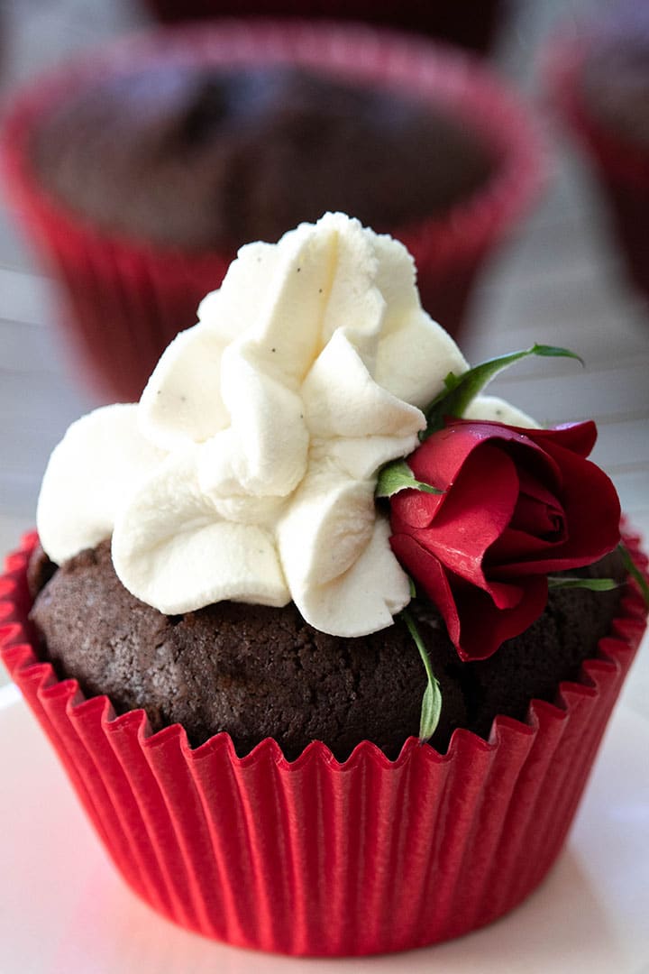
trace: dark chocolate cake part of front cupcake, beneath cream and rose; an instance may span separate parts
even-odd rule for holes
[[[582,573],[624,577],[617,554]],[[41,589],[31,618],[44,657],[87,695],[107,693],[119,713],[144,707],[154,730],[180,722],[194,745],[229,731],[240,755],[270,736],[289,758],[319,739],[341,760],[363,739],[396,757],[417,733],[425,678],[401,622],[340,639],[313,629],[293,605],[223,602],[165,617],[118,581],[107,542],[50,575],[41,552],[30,570]],[[456,656],[437,612],[414,603],[444,700],[432,743],[446,750],[456,727],[487,736],[496,714],[523,719],[532,697],[554,700],[559,681],[595,655],[619,599],[620,589],[554,590],[526,632],[472,663]]]

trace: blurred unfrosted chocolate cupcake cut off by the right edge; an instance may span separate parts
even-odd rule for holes
[[[618,4],[559,39],[548,58],[551,95],[595,166],[633,285],[649,296],[649,9]]]

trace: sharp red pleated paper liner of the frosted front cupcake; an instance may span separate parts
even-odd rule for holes
[[[291,955],[421,947],[519,904],[559,853],[645,625],[630,584],[580,681],[526,723],[496,718],[488,742],[455,731],[441,755],[410,738],[388,761],[364,741],[341,764],[265,740],[238,758],[226,733],[196,750],[178,725],[150,734],[143,711],[116,717],[37,660],[34,542],[0,582],[1,654],[118,870],[184,927]]]

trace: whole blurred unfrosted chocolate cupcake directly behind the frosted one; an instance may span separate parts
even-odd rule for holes
[[[4,161],[74,344],[122,401],[238,246],[325,209],[403,240],[424,306],[456,330],[541,169],[525,110],[468,56],[358,25],[234,20],[39,79]]]

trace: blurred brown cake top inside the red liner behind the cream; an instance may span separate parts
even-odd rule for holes
[[[188,249],[274,241],[326,210],[404,226],[494,162],[415,97],[280,66],[114,77],[57,105],[32,153],[44,189],[99,227]]]

